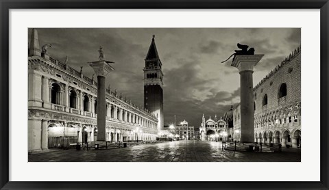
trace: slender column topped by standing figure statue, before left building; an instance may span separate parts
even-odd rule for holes
[[[110,63],[103,60],[103,51],[100,49],[99,61],[88,63],[97,75],[97,141],[106,141],[106,76],[114,70]]]

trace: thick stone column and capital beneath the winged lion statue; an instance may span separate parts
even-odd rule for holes
[[[241,90],[241,141],[254,141],[254,66],[264,55],[236,55],[231,66],[239,69]]]

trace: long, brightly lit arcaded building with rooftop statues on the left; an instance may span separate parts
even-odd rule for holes
[[[49,55],[32,30],[28,56],[28,150],[97,141],[97,82]],[[115,72],[115,71],[114,71]],[[156,140],[158,118],[108,88],[106,141]]]

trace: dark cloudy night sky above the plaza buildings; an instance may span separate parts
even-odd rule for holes
[[[156,47],[164,72],[164,124],[186,120],[199,127],[202,113],[209,118],[223,116],[240,101],[240,78],[236,68],[225,64],[236,43],[254,47],[265,54],[254,70],[254,85],[300,45],[300,29],[221,29],[221,28],[124,28],[124,29],[37,29],[40,46],[50,43],[49,55],[92,77],[87,62],[97,61],[99,46],[115,70],[106,78],[111,90],[143,105],[143,67],[156,35]],[[31,29],[29,29],[29,38]],[[97,78],[97,77],[95,77]]]

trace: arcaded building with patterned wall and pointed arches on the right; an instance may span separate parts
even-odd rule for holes
[[[254,87],[255,141],[301,146],[301,49],[298,47]],[[239,141],[240,109],[233,111],[234,139]]]

